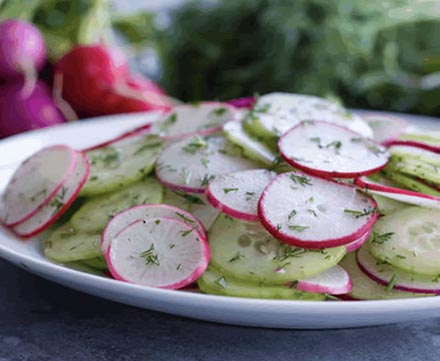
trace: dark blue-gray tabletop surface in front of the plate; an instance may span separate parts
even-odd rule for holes
[[[217,325],[81,294],[0,260],[0,361],[434,361],[440,320],[351,330]]]

